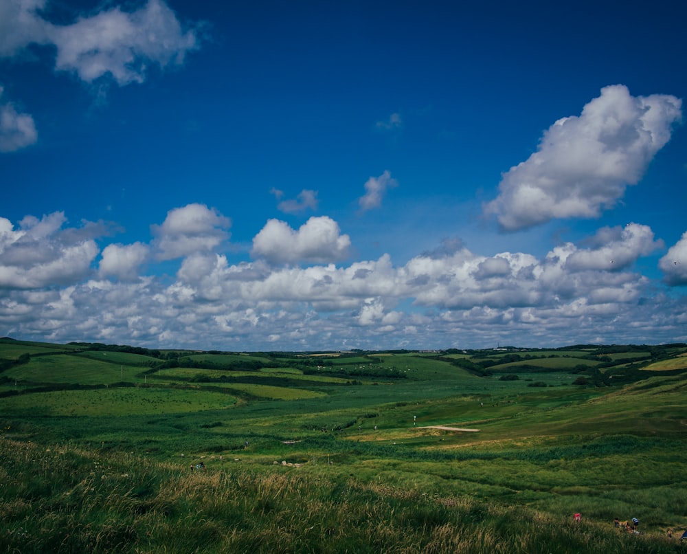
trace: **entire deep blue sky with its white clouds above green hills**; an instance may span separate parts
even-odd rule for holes
[[[687,341],[686,12],[0,0],[0,336]]]

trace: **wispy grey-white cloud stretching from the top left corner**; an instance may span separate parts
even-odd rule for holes
[[[199,47],[195,29],[183,30],[169,6],[148,2],[133,12],[120,7],[54,25],[41,16],[45,0],[8,0],[0,4],[0,56],[17,56],[31,44],[56,49],[55,69],[85,82],[109,75],[118,85],[142,82],[151,65],[183,63]]]

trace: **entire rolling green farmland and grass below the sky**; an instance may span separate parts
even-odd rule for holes
[[[2,339],[0,545],[683,552],[686,352]],[[633,517],[638,535],[611,523]]]

